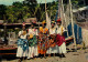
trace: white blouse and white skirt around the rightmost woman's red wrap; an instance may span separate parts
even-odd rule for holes
[[[57,34],[62,34],[65,31],[65,28],[63,25],[61,25],[59,28],[57,28]],[[65,42],[63,42],[63,44],[61,46],[58,46],[58,53],[66,53],[66,44]]]

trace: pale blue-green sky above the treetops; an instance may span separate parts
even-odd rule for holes
[[[24,1],[24,0],[0,0],[0,4],[6,4],[6,6],[11,6],[13,2],[15,1]],[[56,1],[56,0],[46,0],[46,2],[52,2],[52,1]],[[37,0],[37,3],[45,3],[45,0]]]

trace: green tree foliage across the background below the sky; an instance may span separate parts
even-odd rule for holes
[[[58,1],[58,0],[57,0]],[[46,3],[46,10],[52,20],[55,19],[58,2]],[[67,4],[68,0],[64,0]],[[72,0],[73,8],[79,7],[79,0]],[[45,3],[37,3],[36,0],[24,0],[23,2],[13,2],[12,6],[0,6],[0,19],[6,19],[8,22],[19,22],[28,18],[37,18],[37,21],[45,20]]]

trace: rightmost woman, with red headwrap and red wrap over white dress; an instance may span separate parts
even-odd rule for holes
[[[66,53],[66,41],[64,37],[65,28],[62,25],[61,19],[57,20],[57,30],[56,30],[56,44],[58,45],[58,53],[62,56],[65,56]]]

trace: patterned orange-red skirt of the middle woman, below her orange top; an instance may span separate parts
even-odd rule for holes
[[[40,35],[38,38],[38,54],[45,54],[48,45],[48,38],[46,34]]]

